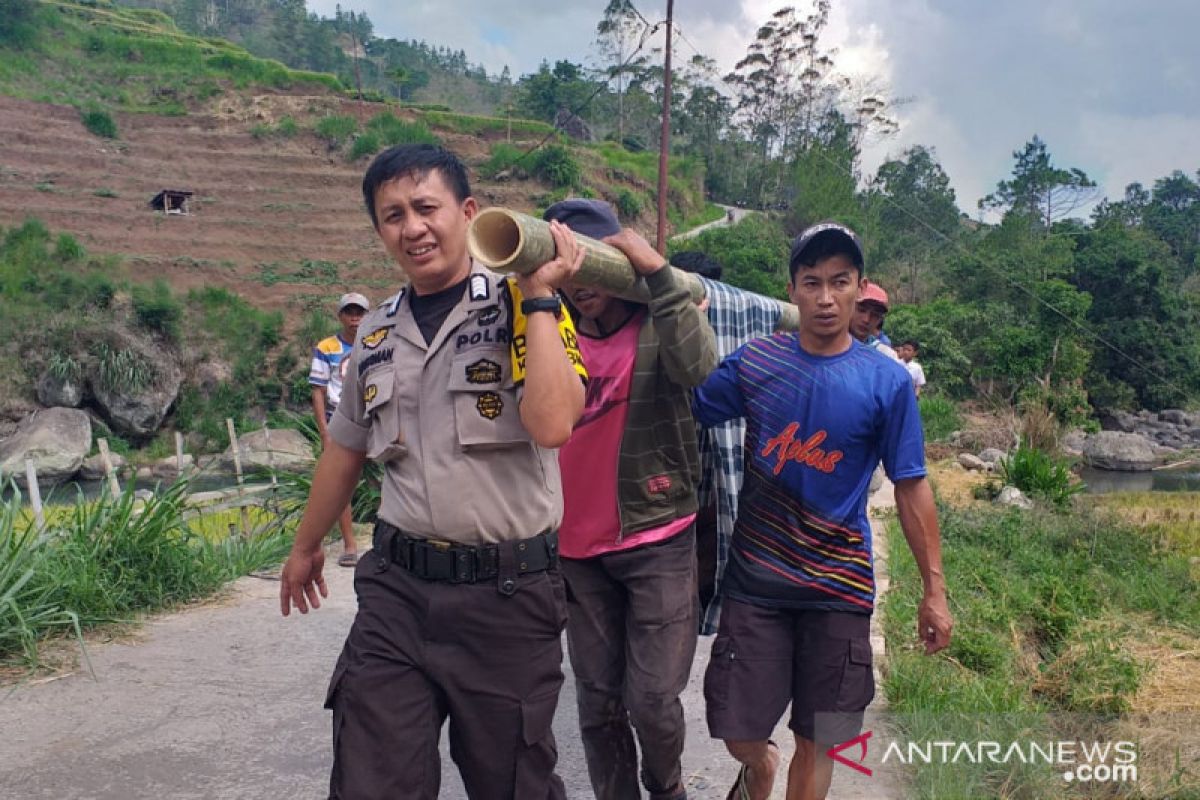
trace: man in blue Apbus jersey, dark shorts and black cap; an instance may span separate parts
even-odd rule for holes
[[[709,732],[742,763],[732,796],[766,799],[788,704],[790,798],[823,798],[826,750],[858,735],[875,696],[868,487],[883,462],[925,595],[926,652],[949,644],[941,543],[908,373],[850,333],[863,248],[838,223],[793,242],[788,296],[798,332],[755,339],[696,391],[698,422],[743,417],[745,481],[724,577],[720,631],[704,678]]]

